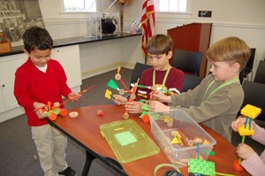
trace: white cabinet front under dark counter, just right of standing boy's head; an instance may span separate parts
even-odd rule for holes
[[[55,48],[52,50],[51,57],[58,60],[64,67],[70,88],[76,88],[82,84],[79,45]]]

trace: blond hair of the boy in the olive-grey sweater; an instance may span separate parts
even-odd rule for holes
[[[207,51],[206,57],[212,62],[239,63],[240,71],[246,66],[251,50],[246,42],[231,36],[215,42]]]

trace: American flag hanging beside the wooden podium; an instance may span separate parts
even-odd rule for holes
[[[146,45],[149,38],[155,34],[155,3],[154,0],[146,0],[142,4],[142,16],[141,16],[141,50],[147,57]]]

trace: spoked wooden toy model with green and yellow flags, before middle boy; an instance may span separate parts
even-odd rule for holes
[[[154,86],[144,86],[144,85],[139,85],[139,80],[137,80],[137,82],[133,82],[131,83],[132,89],[130,90],[129,88],[126,87],[125,82],[122,80],[122,76],[120,74],[121,68],[118,67],[117,68],[117,73],[115,75],[115,80],[119,80],[124,88],[118,88],[117,83],[114,80],[110,80],[107,84],[107,86],[109,88],[112,88],[114,90],[117,90],[119,95],[123,96],[125,93],[128,93],[130,96],[128,98],[128,102],[132,102],[136,96],[142,96],[144,98],[148,98],[148,95],[146,95],[146,93],[144,91],[138,91],[138,88],[148,88],[151,89],[152,91],[155,90],[161,90],[163,91],[163,93],[165,94],[173,94],[173,93],[178,93],[180,94],[180,92],[178,91],[177,88],[169,88],[167,89],[165,86],[163,85],[154,85]],[[114,96],[112,96],[112,92],[107,89],[106,93],[105,93],[105,97],[107,97],[108,99],[112,98],[115,99]],[[151,100],[154,100],[153,96],[150,96]],[[144,121],[144,122],[149,122],[150,118],[148,115],[148,100],[143,100],[141,99],[140,102],[144,103],[142,106],[142,113],[140,115],[140,118]],[[128,111],[125,111],[124,115],[123,115],[124,119],[128,119],[129,118],[129,113]]]

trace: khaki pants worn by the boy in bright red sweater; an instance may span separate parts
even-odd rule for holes
[[[45,176],[58,176],[58,172],[67,168],[65,160],[67,138],[55,127],[32,126],[31,132],[40,157]]]

